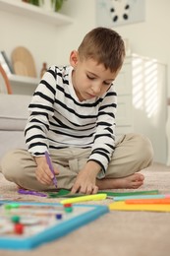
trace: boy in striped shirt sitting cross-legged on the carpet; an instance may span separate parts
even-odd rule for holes
[[[142,185],[144,177],[137,171],[152,162],[150,142],[129,134],[115,143],[113,81],[124,58],[121,36],[96,28],[71,52],[70,66],[49,68],[28,107],[28,151],[10,152],[1,162],[8,180],[26,189],[55,189],[44,157],[48,151],[58,189],[95,194]]]

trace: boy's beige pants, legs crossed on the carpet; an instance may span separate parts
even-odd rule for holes
[[[90,154],[89,149],[68,148],[51,150],[54,166],[59,169],[58,189],[71,189],[77,174],[84,167]],[[106,178],[118,178],[131,175],[151,164],[152,146],[149,140],[139,134],[123,136],[116,144],[116,150],[106,171]],[[33,190],[52,190],[35,177],[36,163],[26,150],[7,153],[1,160],[1,171],[5,178],[21,187]]]

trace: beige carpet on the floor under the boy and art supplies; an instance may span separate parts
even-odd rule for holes
[[[154,163],[153,166],[142,170],[142,173],[145,175],[145,182],[140,190],[158,189],[160,193],[170,193],[170,167]],[[0,195],[18,197],[16,186],[6,181],[1,174]],[[22,197],[21,200],[57,202],[56,199]],[[108,205],[111,202],[104,200],[93,203]],[[31,251],[0,250],[0,256],[21,255],[169,256],[170,213],[110,212],[56,241]]]

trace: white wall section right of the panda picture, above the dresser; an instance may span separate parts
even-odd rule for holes
[[[145,21],[115,28],[123,37],[129,38],[132,51],[156,58],[168,66],[170,85],[170,1],[145,0]],[[170,96],[170,86],[168,86]]]

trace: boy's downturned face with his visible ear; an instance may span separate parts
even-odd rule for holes
[[[103,64],[97,64],[93,59],[80,60],[77,51],[71,53],[70,63],[74,67],[73,86],[81,101],[102,96],[119,73],[105,69]]]

